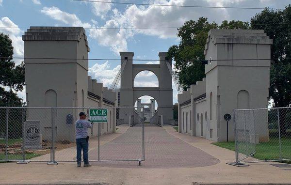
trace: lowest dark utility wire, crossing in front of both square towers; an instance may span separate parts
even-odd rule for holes
[[[122,59],[79,59],[79,58],[34,58],[34,57],[0,57],[0,59],[37,59],[37,60],[88,60],[88,61],[121,61]],[[280,60],[291,60],[290,59],[211,59],[211,60],[201,60],[201,59],[189,59],[181,61],[200,61],[200,62],[210,62],[210,61],[280,61]],[[168,61],[160,59],[128,59],[128,61]]]

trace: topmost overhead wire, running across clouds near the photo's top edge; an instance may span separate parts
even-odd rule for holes
[[[171,5],[171,4],[147,4],[147,3],[134,3],[134,2],[114,2],[114,1],[101,1],[101,0],[74,0],[84,2],[97,2],[97,3],[110,3],[110,4],[125,4],[125,5],[144,5],[144,6],[166,6],[166,7],[183,7],[183,8],[227,8],[227,9],[255,9],[255,10],[283,10],[283,8],[256,8],[256,7],[223,7],[223,6],[194,6],[194,5]]]

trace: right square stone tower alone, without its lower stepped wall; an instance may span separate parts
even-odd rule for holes
[[[232,116],[228,139],[234,140],[233,109],[268,107],[272,43],[263,30],[209,31],[204,55],[212,60],[205,66],[211,140],[226,141],[226,113]],[[268,116],[262,118],[256,130],[259,140],[267,141]]]

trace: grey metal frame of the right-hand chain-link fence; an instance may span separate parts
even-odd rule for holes
[[[249,163],[259,163],[259,162],[276,162],[276,161],[290,161],[291,158],[282,158],[282,138],[281,138],[281,129],[280,129],[280,116],[279,116],[279,110],[280,109],[289,109],[291,110],[291,107],[285,107],[285,108],[252,108],[252,109],[234,109],[233,110],[233,115],[234,115],[234,139],[235,139],[235,162],[231,162],[231,163],[226,163],[226,164],[229,164],[229,165],[234,165],[234,166],[238,166],[238,167],[241,167],[241,166],[249,166],[248,164]],[[243,161],[249,157],[253,157],[254,154],[256,154],[256,122],[255,122],[255,113],[254,111],[259,111],[259,110],[275,110],[276,111],[276,117],[277,117],[277,126],[278,126],[278,139],[279,139],[279,159],[272,159],[272,160],[260,160],[260,159],[257,159],[255,158],[255,160],[253,161]],[[254,140],[255,140],[255,152],[252,153],[252,154],[248,154],[246,155],[244,158],[240,158],[239,155],[240,155],[240,151],[238,149],[238,145],[239,145],[239,142],[238,142],[238,134],[237,134],[237,131],[239,130],[238,129],[238,124],[239,124],[239,121],[238,121],[238,118],[237,118],[237,114],[236,112],[238,111],[244,111],[244,116],[245,116],[245,111],[252,111],[253,112],[253,129],[254,129]],[[267,122],[268,122],[268,126],[269,126],[269,120],[268,120],[268,113],[267,112]],[[291,120],[290,120],[291,121]],[[246,130],[246,121],[245,121],[245,117],[244,117],[244,126],[245,126],[245,130]],[[269,130],[269,128],[268,128]],[[270,133],[269,133],[269,136],[270,136]],[[246,142],[247,139],[245,139],[245,142]]]

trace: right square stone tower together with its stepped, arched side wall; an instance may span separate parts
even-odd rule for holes
[[[210,61],[206,77],[178,94],[179,132],[226,141],[228,113],[228,139],[233,140],[233,109],[267,108],[270,60],[256,59],[270,59],[272,43],[263,30],[210,30],[204,50]],[[259,141],[268,140],[267,120],[257,121],[256,127]]]

